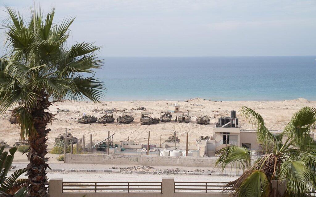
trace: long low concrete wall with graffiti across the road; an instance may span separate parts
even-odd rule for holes
[[[214,167],[216,157],[67,154],[66,163]]]

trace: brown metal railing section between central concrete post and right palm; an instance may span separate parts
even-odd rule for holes
[[[205,192],[210,190],[229,191],[231,188],[223,189],[228,182],[174,182],[173,192],[181,192],[179,190],[200,190],[199,192]]]

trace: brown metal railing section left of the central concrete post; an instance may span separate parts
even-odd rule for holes
[[[162,182],[63,182],[62,192],[66,190],[91,190],[95,193],[102,190],[125,190],[128,193],[131,190],[158,190],[162,193]]]

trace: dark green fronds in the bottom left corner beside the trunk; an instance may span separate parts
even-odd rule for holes
[[[11,168],[14,154],[17,148],[11,148],[9,153],[4,151],[4,146],[0,147],[0,194],[4,192],[13,196],[24,196],[27,179],[18,179],[27,169],[19,169],[11,176],[7,176]]]

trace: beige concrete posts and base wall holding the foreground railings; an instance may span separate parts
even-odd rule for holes
[[[64,192],[62,193],[63,179],[51,179],[49,191],[51,197],[229,197],[228,193],[220,192],[175,192],[173,178],[162,178],[162,193],[160,192]]]

